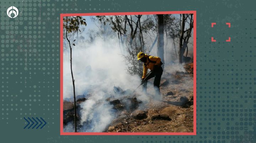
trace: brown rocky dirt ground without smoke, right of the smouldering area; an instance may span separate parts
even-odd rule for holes
[[[165,72],[160,85],[162,99],[151,99],[143,109],[147,118],[121,120],[107,132],[193,132],[193,75]],[[147,91],[154,93],[152,89]]]

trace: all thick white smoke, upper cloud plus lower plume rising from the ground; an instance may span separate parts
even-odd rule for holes
[[[78,43],[72,49],[72,66],[76,95],[90,93],[81,103],[80,132],[102,132],[115,118],[113,105],[106,101],[114,94],[114,85],[123,90],[135,89],[138,76],[126,73],[126,64],[121,55],[119,43],[114,39],[95,40],[94,44]],[[63,97],[73,97],[70,71],[70,50],[63,53]],[[70,127],[71,125],[68,125]],[[65,131],[69,131],[65,127]]]

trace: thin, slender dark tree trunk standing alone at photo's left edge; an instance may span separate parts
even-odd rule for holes
[[[68,19],[68,17],[66,17]],[[68,27],[68,21],[66,23],[66,26]],[[73,93],[74,93],[74,113],[75,113],[75,132],[76,131],[76,99],[75,99],[75,80],[74,80],[74,76],[73,76],[73,70],[72,70],[72,48],[70,45],[70,40],[68,39],[68,34],[67,34],[67,29],[66,29],[66,39],[69,42],[69,47],[70,47],[70,70],[71,70],[71,76],[72,76],[72,82],[73,82]]]

